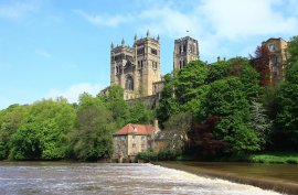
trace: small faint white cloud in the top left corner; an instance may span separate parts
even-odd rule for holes
[[[12,3],[0,4],[0,18],[18,20],[29,13],[39,10],[39,3],[34,0],[31,1],[12,1]]]

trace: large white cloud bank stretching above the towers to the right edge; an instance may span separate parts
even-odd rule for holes
[[[75,11],[93,24],[118,26],[127,23],[137,32],[170,39],[190,35],[199,40],[202,56],[226,55],[235,45],[255,47],[256,37],[291,36],[298,32],[296,0],[207,0],[183,2],[152,1],[129,15],[92,15]],[[185,6],[187,4],[187,6]],[[289,6],[291,4],[291,6]],[[190,31],[187,33],[187,31]],[[259,42],[263,40],[258,40]]]

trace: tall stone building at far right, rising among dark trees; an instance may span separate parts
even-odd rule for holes
[[[269,85],[275,85],[284,78],[284,69],[287,65],[288,53],[287,45],[288,43],[281,37],[274,39],[270,37],[267,41],[263,42],[262,45],[268,46],[270,61],[269,61]]]

